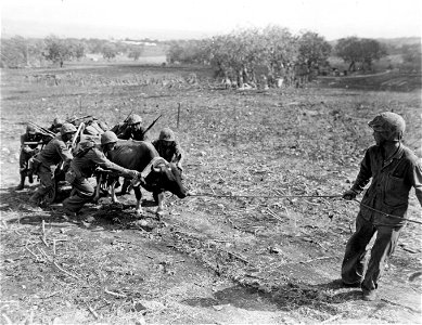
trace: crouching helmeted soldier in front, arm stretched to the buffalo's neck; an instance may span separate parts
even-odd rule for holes
[[[97,167],[114,170],[125,177],[136,178],[138,171],[123,168],[110,161],[104,154],[113,151],[117,136],[112,131],[101,134],[101,146],[88,141],[80,143],[80,150],[75,153],[75,158],[71,162],[71,168],[66,173],[66,181],[73,186],[71,197],[63,202],[64,210],[67,214],[75,214],[86,203],[90,202],[94,194],[94,187],[89,183],[88,178]]]

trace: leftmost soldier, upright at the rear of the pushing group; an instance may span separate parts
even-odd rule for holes
[[[21,183],[17,185],[16,190],[24,190],[25,178],[28,177],[29,183],[33,183],[33,173],[28,170],[28,160],[35,154],[39,152],[38,146],[42,143],[43,136],[41,133],[38,133],[35,127],[28,125],[26,127],[25,134],[21,135],[21,153],[20,153],[20,173],[21,173]]]

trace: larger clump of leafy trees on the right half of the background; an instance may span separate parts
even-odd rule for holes
[[[243,82],[256,83],[259,78],[266,78],[269,84],[278,78],[286,82],[307,80],[312,74],[327,70],[328,58],[333,55],[348,65],[348,72],[372,70],[373,62],[393,49],[393,46],[386,47],[378,40],[357,37],[340,39],[332,47],[317,32],[293,35],[287,28],[268,26],[203,40],[172,41],[167,61],[212,65],[216,76],[234,79],[242,87]],[[395,50],[402,54],[405,62],[421,58],[420,49],[414,51],[413,46],[402,44]],[[260,76],[257,76],[258,70]]]

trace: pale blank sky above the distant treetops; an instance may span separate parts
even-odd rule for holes
[[[347,36],[421,36],[422,0],[2,0],[4,36],[200,38],[240,27]]]

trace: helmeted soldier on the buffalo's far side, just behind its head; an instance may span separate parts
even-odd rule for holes
[[[157,140],[152,142],[159,156],[169,162],[176,162],[179,169],[182,168],[182,150],[179,143],[176,141],[175,133],[169,128],[164,128],[158,135]]]

